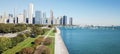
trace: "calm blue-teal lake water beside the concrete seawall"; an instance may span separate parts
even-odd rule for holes
[[[70,54],[120,54],[120,30],[63,27],[60,30]]]

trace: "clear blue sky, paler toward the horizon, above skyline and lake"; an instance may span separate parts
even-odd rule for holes
[[[74,24],[120,25],[120,0],[0,0],[0,14],[13,13],[15,7],[22,13],[29,3],[47,17],[50,9],[54,17],[73,17]]]

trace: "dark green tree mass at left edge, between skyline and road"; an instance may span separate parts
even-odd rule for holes
[[[25,30],[25,24],[0,24],[0,33],[15,33]]]

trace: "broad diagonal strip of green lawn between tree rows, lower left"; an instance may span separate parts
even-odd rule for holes
[[[38,36],[38,37],[40,37],[40,36]],[[36,37],[36,38],[38,38],[38,37]],[[36,38],[28,37],[23,42],[18,43],[12,49],[8,49],[7,51],[5,51],[3,54],[15,54],[16,52],[19,52],[21,49],[23,49],[25,47],[31,47],[32,46],[31,42],[33,42]]]

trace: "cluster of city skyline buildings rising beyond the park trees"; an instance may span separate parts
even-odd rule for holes
[[[43,24],[43,25],[73,25],[73,18],[67,19],[67,16],[60,16],[54,18],[53,11],[50,10],[50,17],[46,17],[45,12],[35,11],[35,16],[33,16],[34,5],[29,4],[29,8],[24,10],[22,14],[16,14],[16,8],[14,9],[14,14],[7,14],[4,12],[0,16],[0,23],[14,23],[14,24]],[[67,21],[69,20],[69,23]]]

